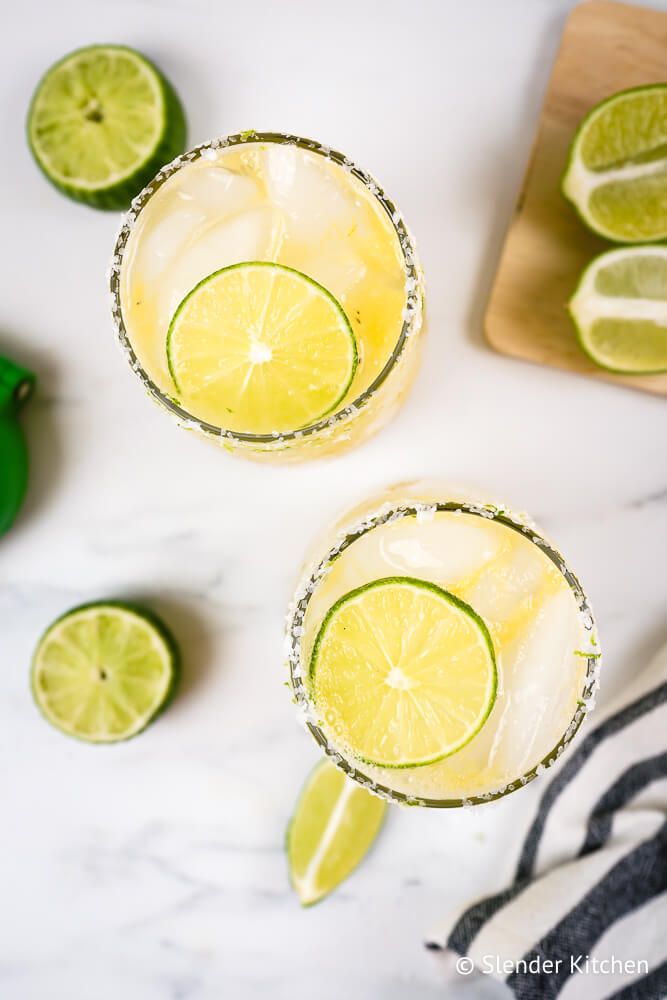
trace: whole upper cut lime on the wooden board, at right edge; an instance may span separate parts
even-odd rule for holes
[[[563,192],[609,240],[667,237],[667,84],[621,91],[589,112],[572,143]]]

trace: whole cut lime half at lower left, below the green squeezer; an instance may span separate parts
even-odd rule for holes
[[[32,692],[57,729],[89,743],[141,732],[173,693],[176,643],[152,613],[115,601],[68,611],[40,639]]]

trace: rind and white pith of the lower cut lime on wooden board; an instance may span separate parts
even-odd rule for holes
[[[647,368],[645,366],[631,366],[619,361],[614,362],[593,343],[593,326],[596,319],[602,318],[603,312],[604,316],[612,319],[648,319],[653,321],[665,327],[667,341],[667,286],[665,287],[664,301],[657,298],[615,298],[604,296],[596,290],[597,277],[606,265],[643,256],[661,258],[667,268],[667,247],[649,243],[644,246],[628,246],[609,250],[599,254],[586,267],[579,279],[575,293],[568,303],[568,312],[581,349],[598,368],[615,375],[659,375],[667,372],[667,348],[664,363]],[[610,303],[610,305],[603,307],[602,303]],[[623,310],[626,310],[625,315],[623,315]]]

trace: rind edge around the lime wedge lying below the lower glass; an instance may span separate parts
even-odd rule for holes
[[[297,872],[296,870],[296,838],[299,833],[299,825],[303,820],[304,810],[307,810],[309,806],[309,794],[315,788],[318,781],[326,777],[328,773],[334,771],[340,775],[340,778],[344,783],[343,788],[346,790],[348,796],[368,796],[368,800],[370,800],[369,804],[370,802],[373,803],[372,813],[375,815],[372,816],[372,821],[369,824],[370,829],[360,831],[357,827],[356,830],[350,831],[352,833],[361,833],[362,836],[357,837],[357,843],[354,845],[357,849],[353,852],[351,860],[348,856],[347,864],[343,866],[343,871],[339,873],[339,877],[333,880],[330,884],[317,884],[314,880],[307,881],[304,877],[304,873]],[[345,774],[343,774],[343,772],[340,771],[327,757],[315,765],[302,785],[294,812],[292,813],[287,825],[287,830],[285,831],[285,854],[287,856],[290,885],[298,896],[299,902],[304,909],[308,909],[311,906],[316,906],[318,903],[321,903],[327,898],[327,896],[337,889],[342,882],[348,879],[350,875],[356,871],[362,861],[372,850],[384,824],[386,813],[387,803],[384,799],[381,799],[379,796],[374,795],[369,789],[352,781],[351,778],[348,778]]]

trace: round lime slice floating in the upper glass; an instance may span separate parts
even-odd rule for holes
[[[340,303],[281,264],[233,264],[186,295],[167,334],[169,370],[195,417],[247,434],[298,430],[334,410],[357,368]]]

